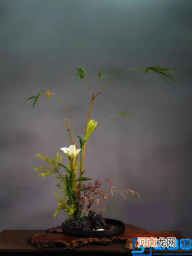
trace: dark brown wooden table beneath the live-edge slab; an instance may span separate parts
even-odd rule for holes
[[[39,249],[29,243],[29,238],[34,233],[45,233],[45,230],[4,230],[0,233],[0,256],[3,255],[30,255],[30,256],[50,256],[50,255],[131,255],[130,250],[125,250],[123,244],[111,244],[108,246],[92,245],[76,250],[66,250],[63,248]],[[184,238],[180,232],[173,232],[177,238]]]

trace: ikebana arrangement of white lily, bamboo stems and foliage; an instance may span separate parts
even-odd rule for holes
[[[70,112],[66,107],[65,102],[50,90],[41,90],[40,92],[38,92],[36,96],[32,96],[26,100],[26,102],[28,100],[32,100],[33,107],[34,107],[37,101],[42,96],[45,96],[48,99],[50,97],[56,97],[66,109],[67,116],[65,118],[65,124],[70,137],[71,145],[58,145],[58,148],[60,148],[60,151],[56,153],[56,157],[48,157],[40,153],[37,153],[36,156],[44,160],[48,165],[35,167],[34,170],[42,171],[38,173],[38,175],[42,177],[48,174],[52,174],[57,179],[56,186],[61,190],[62,193],[61,195],[58,195],[57,193],[55,193],[55,196],[58,200],[58,207],[56,208],[53,216],[56,216],[58,211],[62,210],[64,214],[68,216],[68,220],[70,220],[70,223],[72,223],[73,221],[75,222],[76,220],[79,220],[82,222],[84,220],[87,220],[88,219],[87,214],[89,214],[90,216],[94,214],[93,211],[90,211],[91,207],[93,206],[94,208],[97,208],[97,205],[101,205],[102,210],[104,211],[105,206],[102,200],[106,200],[106,198],[108,197],[108,194],[111,194],[113,196],[114,192],[118,192],[122,195],[124,199],[125,195],[128,192],[131,192],[133,195],[136,194],[138,197],[140,197],[140,194],[133,190],[126,190],[126,189],[115,190],[110,178],[106,180],[107,182],[109,182],[109,191],[105,192],[104,190],[101,190],[101,186],[103,182],[101,182],[99,179],[96,180],[95,182],[90,182],[92,178],[87,177],[86,173],[88,173],[88,171],[84,169],[86,146],[88,143],[88,139],[92,134],[94,134],[98,126],[97,121],[91,118],[94,101],[104,93],[106,88],[109,86],[110,82],[120,72],[126,72],[128,70],[144,70],[146,74],[148,71],[151,71],[158,74],[161,78],[163,78],[169,84],[170,84],[169,80],[175,80],[176,78],[174,76],[174,72],[172,72],[170,69],[162,68],[159,66],[141,67],[141,68],[125,68],[123,70],[116,72],[116,74],[114,74],[113,76],[108,76],[106,75],[105,70],[101,70],[100,72],[98,72],[98,82],[100,83],[102,89],[96,94],[94,94],[91,92],[90,86],[86,80],[85,67],[78,66],[76,69],[77,69],[77,72],[76,74],[74,74],[75,80],[82,80],[84,85],[86,86],[86,89],[88,90],[88,93],[91,96],[90,106],[88,108],[88,114],[86,117],[85,130],[82,131],[83,135],[81,134],[81,136],[78,135],[77,137],[74,136],[72,116],[70,115]],[[104,83],[104,81],[106,80],[107,82]],[[126,111],[122,111],[118,114],[110,116],[109,118],[112,118],[114,116],[128,117],[128,116],[131,116],[131,114],[127,114]],[[75,138],[78,138],[78,144],[76,143]],[[62,163],[63,159],[64,159],[64,163]],[[95,212],[96,214],[98,213],[98,211],[95,211]],[[80,226],[82,228],[82,225]],[[83,226],[85,226],[84,222],[83,222]],[[90,228],[91,227],[89,226],[88,230]]]

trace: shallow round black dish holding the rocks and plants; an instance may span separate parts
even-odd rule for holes
[[[120,220],[105,219],[108,226],[113,226],[113,229],[108,230],[78,230],[62,227],[64,234],[80,237],[105,237],[120,234],[125,230],[125,224]]]

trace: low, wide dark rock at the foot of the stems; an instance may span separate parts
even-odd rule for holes
[[[69,219],[62,223],[62,227],[66,227],[70,229],[78,229],[78,230],[91,230],[91,222],[90,220]]]

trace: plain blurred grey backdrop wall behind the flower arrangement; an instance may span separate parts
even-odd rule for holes
[[[111,178],[117,189],[140,192],[106,201],[106,214],[153,230],[191,236],[192,1],[190,0],[0,0],[0,230],[44,229],[60,224],[53,177],[40,178],[36,152],[53,156],[70,141],[66,102],[82,135],[90,97],[74,81],[85,65],[98,92],[97,73],[137,66],[165,66],[181,78],[173,86],[156,74],[130,71],[97,98],[92,118],[111,118],[88,142],[87,176]],[[66,158],[65,158],[66,160]]]

